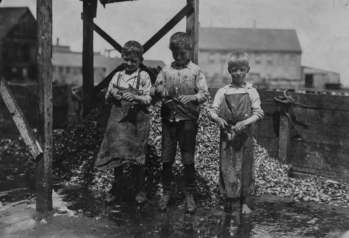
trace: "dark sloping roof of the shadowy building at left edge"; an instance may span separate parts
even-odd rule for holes
[[[15,25],[25,21],[23,15],[31,14],[28,7],[0,7],[0,39],[4,37]]]

